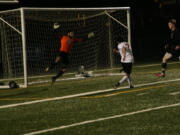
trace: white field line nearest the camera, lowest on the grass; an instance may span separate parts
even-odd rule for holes
[[[82,122],[74,123],[74,124],[70,124],[70,125],[63,125],[63,126],[59,126],[59,127],[55,127],[55,128],[26,133],[24,135],[37,135],[37,134],[52,132],[52,131],[56,131],[56,130],[60,130],[60,129],[66,129],[66,128],[71,128],[71,127],[75,127],[75,126],[86,125],[86,124],[95,123],[95,122],[99,122],[99,121],[116,119],[116,118],[121,118],[121,117],[125,117],[125,116],[131,116],[131,115],[135,115],[135,114],[139,114],[139,113],[151,112],[154,110],[160,110],[160,109],[176,107],[176,106],[180,106],[180,103],[171,104],[171,105],[163,105],[163,106],[159,106],[159,107],[148,108],[148,109],[144,109],[144,110],[129,112],[129,113],[120,114],[120,115],[114,115],[114,116],[110,116],[110,117],[102,117],[102,118],[98,118],[98,119],[94,119],[94,120],[82,121]]]

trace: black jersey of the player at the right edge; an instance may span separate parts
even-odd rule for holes
[[[178,29],[176,29],[175,31],[171,31],[167,44],[168,44],[168,47],[166,48],[167,52],[173,54],[179,52],[175,50],[175,47],[177,45],[180,45],[180,31]]]

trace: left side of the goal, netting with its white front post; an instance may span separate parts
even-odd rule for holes
[[[23,9],[0,12],[0,88],[9,88],[10,81],[17,81],[20,87],[27,87],[22,14]]]

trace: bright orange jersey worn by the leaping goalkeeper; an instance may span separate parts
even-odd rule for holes
[[[60,51],[65,53],[70,53],[74,42],[81,42],[82,39],[74,39],[68,36],[62,36]]]

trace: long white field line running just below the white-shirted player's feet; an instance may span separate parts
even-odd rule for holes
[[[149,85],[154,85],[154,84],[161,84],[161,83],[166,83],[166,82],[176,82],[176,81],[180,81],[180,79],[159,81],[159,82],[146,83],[146,84],[138,84],[138,85],[135,85],[135,87],[149,86]],[[128,88],[128,87],[127,86],[120,87],[118,89],[110,88],[110,89],[97,90],[97,91],[92,91],[92,92],[84,92],[84,93],[62,96],[62,97],[54,97],[54,98],[49,98],[49,99],[46,98],[46,99],[42,99],[42,100],[28,101],[28,102],[17,103],[17,104],[2,105],[2,106],[0,106],[0,109],[12,108],[12,107],[24,106],[24,105],[31,105],[31,104],[35,104],[35,103],[49,102],[49,101],[55,101],[55,100],[69,99],[69,98],[75,98],[75,97],[80,97],[80,96],[88,96],[88,95],[93,95],[93,94],[121,90],[124,88]]]

